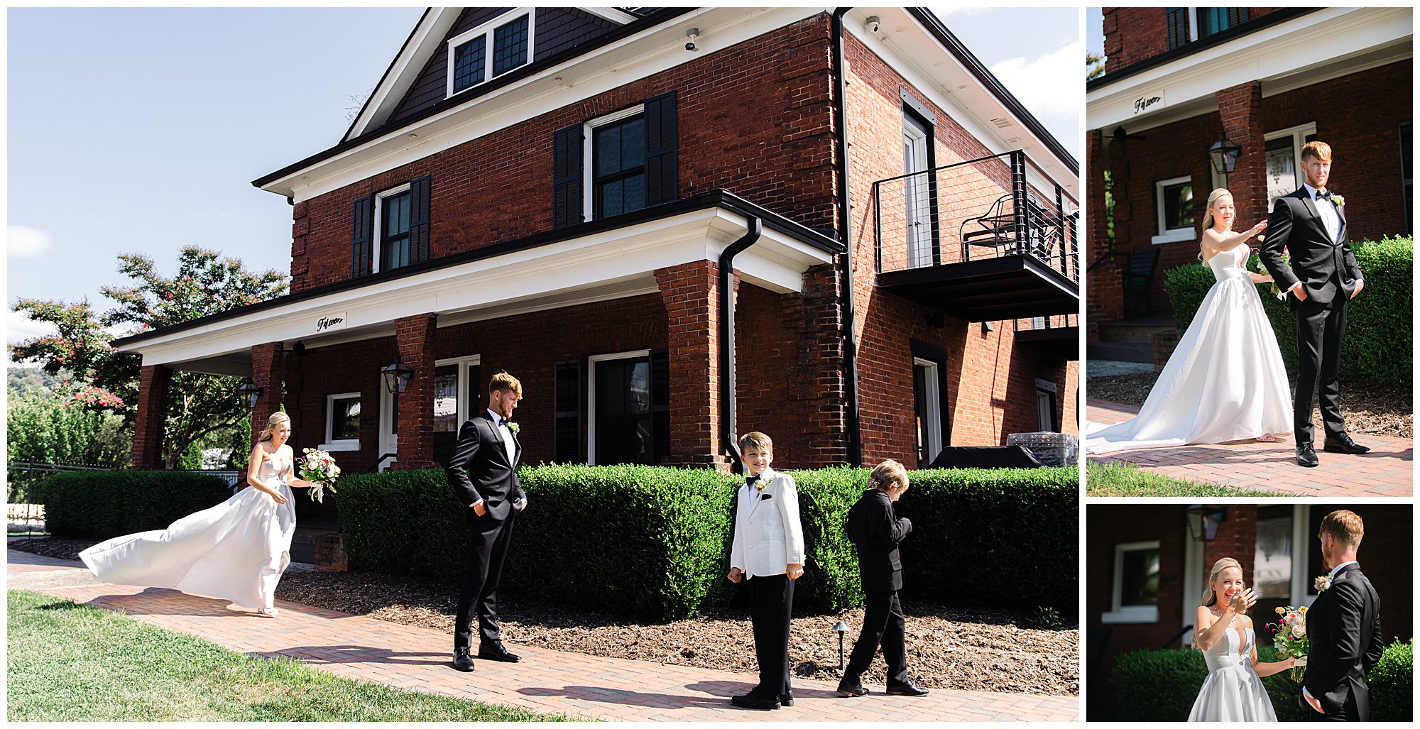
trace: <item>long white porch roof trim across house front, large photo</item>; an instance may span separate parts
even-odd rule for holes
[[[649,220],[581,238],[425,271],[378,285],[220,319],[116,347],[143,364],[204,372],[239,362],[253,345],[307,346],[389,336],[395,319],[437,313],[440,325],[572,306],[659,291],[655,271],[716,261],[746,233],[744,217],[719,207]],[[741,279],[777,294],[802,291],[804,272],[832,255],[772,228],[736,258]],[[318,322],[339,319],[335,326]],[[320,329],[320,330],[318,330]]]

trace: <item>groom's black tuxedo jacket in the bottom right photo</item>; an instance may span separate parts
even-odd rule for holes
[[[1380,597],[1360,564],[1346,564],[1306,611],[1311,655],[1302,685],[1328,716],[1367,720],[1366,674],[1380,661]],[[1315,713],[1311,706],[1304,708]]]

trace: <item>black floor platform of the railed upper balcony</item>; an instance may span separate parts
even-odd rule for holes
[[[1079,284],[1028,254],[882,272],[878,285],[968,322],[1079,312]]]

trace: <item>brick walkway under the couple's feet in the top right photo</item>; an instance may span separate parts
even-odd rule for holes
[[[1135,406],[1088,400],[1085,420],[1115,424],[1135,417]],[[1358,435],[1365,455],[1318,451],[1321,465],[1296,465],[1296,444],[1238,441],[1217,445],[1137,448],[1092,455],[1092,462],[1126,461],[1153,472],[1244,489],[1282,491],[1301,496],[1410,496],[1414,445],[1404,438]]]

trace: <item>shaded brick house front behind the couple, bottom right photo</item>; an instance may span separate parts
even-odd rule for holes
[[[1193,644],[1193,613],[1218,559],[1242,563],[1244,580],[1260,596],[1254,623],[1275,623],[1278,606],[1311,604],[1312,579],[1326,574],[1316,532],[1322,516],[1336,509],[1350,509],[1366,522],[1359,559],[1380,596],[1384,642],[1413,635],[1411,506],[1312,501],[1208,506],[1218,509],[1211,539],[1207,529],[1190,525],[1191,506],[1086,508],[1083,620],[1092,698],[1110,701],[1105,684],[1120,652]],[[1260,627],[1258,642],[1269,644],[1271,631]]]

